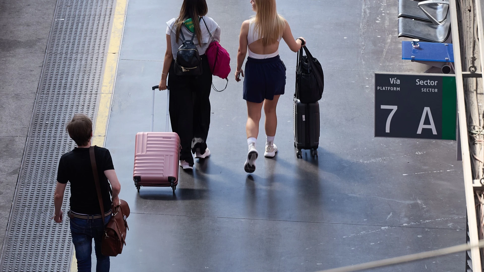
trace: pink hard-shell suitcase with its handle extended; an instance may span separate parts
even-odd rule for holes
[[[151,132],[138,132],[135,143],[135,168],[133,180],[139,193],[141,186],[170,186],[175,193],[178,184],[178,162],[180,157],[180,137],[174,132],[153,132],[154,90],[151,105]],[[167,90],[166,131],[168,131],[168,104],[170,92]]]

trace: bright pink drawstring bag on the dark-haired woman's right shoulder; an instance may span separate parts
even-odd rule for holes
[[[227,50],[222,47],[222,45],[220,45],[213,39],[212,33],[210,33],[210,30],[205,23],[205,19],[203,19],[203,23],[205,24],[205,27],[207,28],[207,31],[212,38],[212,43],[210,43],[209,48],[207,48],[207,51],[205,51],[205,55],[207,55],[207,60],[209,61],[210,70],[212,71],[212,75],[224,78],[225,80],[227,80],[228,84],[228,74],[230,74],[230,55],[228,54]],[[227,89],[227,84],[225,85],[224,90]],[[215,86],[213,86],[213,83],[212,87],[213,90],[218,91]]]

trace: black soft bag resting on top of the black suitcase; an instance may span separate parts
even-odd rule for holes
[[[306,56],[302,55],[306,51]],[[321,99],[324,89],[324,74],[321,64],[313,58],[306,46],[298,52],[296,63],[296,93],[301,103],[315,103]]]

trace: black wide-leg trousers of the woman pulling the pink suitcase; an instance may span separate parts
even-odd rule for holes
[[[171,128],[180,136],[180,160],[185,160],[190,166],[194,164],[192,152],[195,153],[197,148],[202,154],[205,152],[210,127],[209,97],[212,90],[212,72],[207,56],[200,57],[202,75],[177,76],[173,68],[175,64],[173,60],[167,84],[170,88]]]

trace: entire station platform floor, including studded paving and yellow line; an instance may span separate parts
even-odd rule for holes
[[[181,0],[14,2],[22,8],[0,4],[0,272],[76,271],[69,223],[50,217],[59,158],[74,148],[64,125],[77,112],[95,120],[93,144],[111,152],[120,198],[131,208],[127,245],[111,258],[111,271],[310,272],[465,242],[456,142],[374,137],[374,73],[428,68],[401,60],[395,1],[277,0],[324,69],[318,158],[308,151],[296,157],[296,54],[282,43],[287,84],[277,109],[277,155],[260,156],[257,170],[244,172],[246,106],[231,73],[227,90],[211,93],[212,155],[180,171],[175,194],[138,193],[132,174],[135,135],[150,130],[166,21],[179,14]],[[235,71],[250,3],[207,3]],[[32,21],[39,10],[45,14]],[[214,84],[225,80],[214,77]],[[166,91],[156,91],[155,105],[154,130],[163,131]],[[460,271],[464,261],[461,253],[391,269]]]

